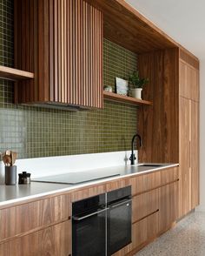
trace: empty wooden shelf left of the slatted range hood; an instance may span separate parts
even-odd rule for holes
[[[0,77],[18,81],[24,79],[33,79],[34,73],[27,72],[27,71],[20,71],[13,68],[5,67],[0,65]]]

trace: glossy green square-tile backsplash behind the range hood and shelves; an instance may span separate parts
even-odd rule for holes
[[[0,3],[0,64],[13,66],[13,1]],[[136,69],[136,55],[104,40],[104,84]],[[13,104],[13,83],[0,80],[0,152],[36,158],[130,149],[136,107],[105,102],[103,110],[61,111]]]

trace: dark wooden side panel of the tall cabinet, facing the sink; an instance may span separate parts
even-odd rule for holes
[[[179,161],[178,50],[155,51],[138,57],[141,77],[149,77],[143,98],[153,102],[139,111],[143,147],[140,162]]]

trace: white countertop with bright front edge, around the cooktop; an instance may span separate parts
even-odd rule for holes
[[[155,164],[157,165],[157,164]],[[107,179],[96,179],[89,182],[83,182],[76,185],[69,184],[58,184],[58,183],[47,183],[47,182],[31,182],[30,185],[0,185],[0,206],[10,205],[17,202],[22,202],[27,199],[36,199],[46,195],[54,194],[56,192],[68,192],[76,188],[82,188],[87,185],[97,185],[105,181],[122,179],[127,176],[136,176],[142,173],[156,172],[159,170],[167,169],[169,167],[175,167],[178,164],[161,164],[160,167],[150,167],[140,165],[135,166],[115,166],[107,167],[102,169],[96,169],[95,171],[84,171],[84,172],[117,172],[118,176],[109,177]]]

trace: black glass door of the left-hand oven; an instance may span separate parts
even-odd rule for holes
[[[106,255],[106,210],[87,218],[73,219],[73,256]]]

